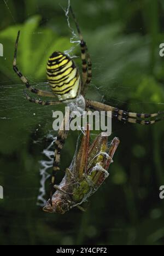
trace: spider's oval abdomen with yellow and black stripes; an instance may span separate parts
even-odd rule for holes
[[[48,60],[46,74],[52,92],[59,101],[77,97],[80,75],[74,62],[65,54],[55,51]]]

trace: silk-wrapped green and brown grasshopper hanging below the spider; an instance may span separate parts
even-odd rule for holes
[[[108,147],[108,137],[97,136],[89,145],[89,126],[82,138],[78,154],[74,156],[71,167],[66,169],[65,177],[55,185],[51,202],[48,200],[43,210],[49,213],[65,213],[73,207],[80,207],[101,186],[108,177],[108,167],[120,141],[114,138]]]

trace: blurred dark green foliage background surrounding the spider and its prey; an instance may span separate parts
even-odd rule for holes
[[[5,4],[7,3],[7,5]],[[159,45],[164,42],[164,2],[154,0],[71,1],[87,42],[93,79],[87,97],[139,113],[164,110],[164,69]],[[67,0],[0,1],[0,200],[1,245],[163,245],[163,122],[139,126],[113,121],[121,140],[110,176],[91,197],[85,213],[78,209],[46,214],[37,206],[39,161],[49,145],[54,107],[25,99],[24,84],[13,72],[17,63],[36,88],[46,88],[45,67],[55,50],[71,44],[63,8]],[[71,20],[71,27],[75,30]],[[75,59],[80,65],[80,58]],[[32,95],[33,96],[33,95]],[[63,109],[63,106],[56,107]],[[51,131],[55,136],[55,132]],[[70,132],[61,169],[69,166],[78,132]],[[51,170],[49,170],[51,173]],[[60,182],[64,172],[58,173]],[[49,181],[46,181],[48,197]]]

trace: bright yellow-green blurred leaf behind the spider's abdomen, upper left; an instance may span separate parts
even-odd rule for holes
[[[1,31],[0,41],[5,45],[6,65],[0,63],[1,72],[13,78],[11,57],[14,53],[14,44],[17,32],[20,30],[17,62],[22,73],[31,75],[35,79],[45,77],[45,67],[48,57],[56,50],[65,51],[71,48],[66,37],[58,37],[49,28],[39,28],[40,16],[32,16],[23,25],[15,25]],[[13,48],[11,48],[13,45]],[[33,65],[34,64],[34,65]]]

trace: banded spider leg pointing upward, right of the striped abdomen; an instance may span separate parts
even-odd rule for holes
[[[81,47],[81,60],[82,60],[82,87],[81,87],[81,92],[82,94],[84,94],[84,87],[86,84],[89,84],[91,82],[91,78],[92,78],[92,63],[91,63],[91,57],[90,54],[87,52],[87,45],[86,42],[83,39],[83,36],[81,34],[80,28],[79,28],[79,24],[77,19],[75,18],[74,12],[72,10],[72,7],[70,7],[71,10],[71,14],[73,16],[75,25],[77,27],[77,31],[79,34],[79,38],[80,38],[80,47]],[[87,52],[87,53],[86,53]]]

